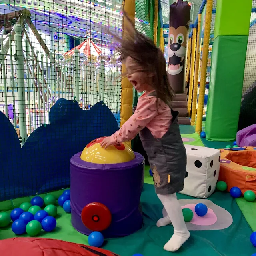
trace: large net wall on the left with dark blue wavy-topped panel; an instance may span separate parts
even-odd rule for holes
[[[122,35],[121,8],[0,4],[0,201],[69,186],[70,158],[118,129],[121,66],[110,34]],[[136,24],[148,33],[146,21]]]

